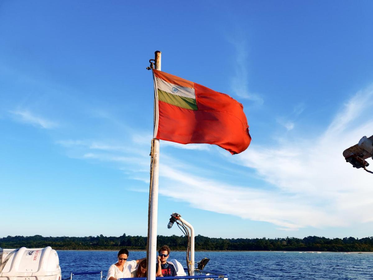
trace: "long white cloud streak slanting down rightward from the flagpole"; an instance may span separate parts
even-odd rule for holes
[[[162,195],[186,201],[195,208],[266,221],[292,230],[309,225],[343,223],[338,217],[322,217],[320,207],[304,203],[297,195],[222,184],[167,165],[160,166],[160,176],[170,180],[162,185]],[[305,216],[308,218],[305,219]]]

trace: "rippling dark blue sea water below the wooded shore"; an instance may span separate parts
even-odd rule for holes
[[[62,279],[71,272],[103,271],[117,261],[115,251],[57,251]],[[144,258],[130,251],[128,259]],[[185,252],[170,253],[186,267]],[[206,270],[229,274],[229,280],[247,279],[373,279],[373,253],[195,252],[195,261],[209,258]],[[155,260],[154,260],[155,261]],[[100,275],[76,275],[73,280],[100,280]]]

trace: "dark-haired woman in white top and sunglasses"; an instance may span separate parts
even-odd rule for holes
[[[131,278],[131,272],[135,270],[136,265],[143,261],[143,259],[135,259],[133,261],[127,261],[128,250],[121,249],[118,252],[118,262],[112,264],[107,272],[107,280],[117,280],[119,278]]]

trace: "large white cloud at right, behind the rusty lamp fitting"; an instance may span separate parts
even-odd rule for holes
[[[372,177],[347,164],[342,152],[361,136],[373,134],[369,112],[372,96],[372,87],[355,94],[322,135],[294,139],[278,147],[252,146],[237,156],[238,163],[256,169],[279,192],[292,193],[304,204],[317,205],[320,215],[310,215],[311,211],[303,217],[306,222],[292,220],[297,225],[364,223],[373,210],[373,189],[369,184]],[[294,211],[301,209],[294,201],[288,203]]]

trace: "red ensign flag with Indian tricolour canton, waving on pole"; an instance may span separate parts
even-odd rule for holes
[[[208,143],[232,155],[251,137],[241,103],[227,94],[153,69],[158,112],[154,138],[181,144]]]

